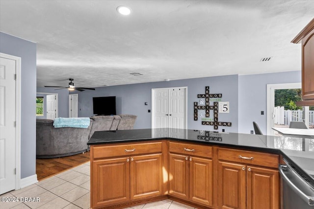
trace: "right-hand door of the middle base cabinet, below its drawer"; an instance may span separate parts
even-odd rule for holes
[[[189,158],[190,200],[212,206],[212,160]]]

